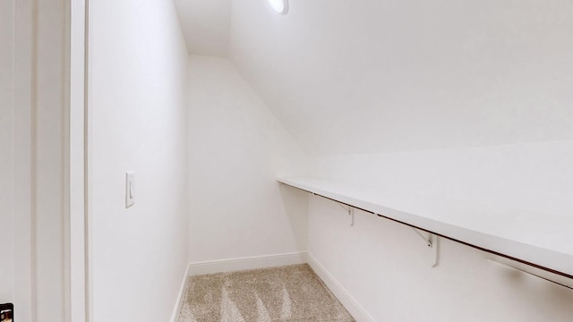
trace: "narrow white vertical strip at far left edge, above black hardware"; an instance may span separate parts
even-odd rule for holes
[[[14,1],[0,2],[0,303],[14,299]]]

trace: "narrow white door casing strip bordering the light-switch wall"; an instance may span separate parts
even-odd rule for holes
[[[69,196],[66,232],[69,250],[69,271],[66,281],[69,283],[69,314],[75,322],[93,321],[91,305],[90,278],[90,218],[89,218],[89,110],[88,110],[88,57],[89,57],[89,0],[68,0],[66,11],[69,21],[66,23],[66,35],[69,36],[69,50],[66,50],[66,64],[69,64],[69,182],[66,195]]]

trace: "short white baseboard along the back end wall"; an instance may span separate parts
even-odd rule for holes
[[[279,255],[258,256],[252,258],[233,258],[205,262],[190,263],[190,275],[235,272],[247,269],[280,267],[286,265],[305,264],[307,252],[296,252]]]

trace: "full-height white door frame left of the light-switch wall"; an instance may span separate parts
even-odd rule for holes
[[[24,321],[38,321],[38,306],[46,299],[38,299],[38,267],[44,265],[38,260],[38,199],[61,199],[61,211],[52,212],[55,220],[61,222],[61,236],[53,241],[61,247],[61,258],[64,301],[58,306],[62,309],[64,321],[90,321],[89,287],[89,221],[88,218],[88,118],[86,117],[87,93],[87,0],[13,0],[14,7],[14,310],[16,316]],[[50,19],[62,17],[57,21],[56,29],[46,19],[44,10],[49,11]],[[59,19],[59,18],[58,18]],[[61,32],[60,36],[55,36]],[[49,39],[57,37],[62,47],[55,47],[45,56],[41,48],[46,48]],[[51,39],[51,38],[50,38]],[[40,45],[41,44],[41,45]],[[44,47],[41,47],[44,46]],[[41,63],[38,63],[41,62]],[[61,88],[62,106],[51,105],[49,111],[60,113],[61,119],[56,122],[60,138],[38,136],[38,125],[43,124],[49,115],[54,119],[56,114],[38,114],[38,90],[42,93],[45,83],[39,83],[38,64],[46,70],[47,64],[62,65],[61,79],[56,81]],[[52,71],[53,72],[53,71]],[[43,76],[46,81],[46,75]],[[61,81],[61,83],[60,83]],[[50,102],[48,104],[53,104]],[[46,106],[44,106],[46,107]],[[43,107],[43,108],[44,108]],[[49,112],[51,113],[51,112]],[[41,117],[40,117],[41,116]],[[43,125],[46,127],[46,125]],[[38,169],[38,147],[45,140],[50,147],[61,150],[61,164],[58,169]],[[52,166],[52,165],[50,165]],[[55,165],[58,166],[58,165]],[[52,179],[46,182],[45,173],[50,169],[61,171],[61,177],[54,179],[54,189],[48,191]],[[38,175],[43,175],[43,186],[38,188]],[[43,189],[38,193],[38,189]],[[49,188],[48,188],[49,189]],[[49,192],[47,196],[41,193]],[[53,193],[53,194],[52,194]],[[44,236],[46,238],[46,236]],[[60,252],[58,251],[58,254]],[[43,254],[43,256],[46,256]],[[49,256],[49,255],[48,255]],[[60,255],[57,255],[58,257]],[[59,269],[58,269],[59,270]],[[45,277],[45,276],[44,276]],[[38,301],[39,300],[39,301]],[[58,299],[47,302],[56,303]]]

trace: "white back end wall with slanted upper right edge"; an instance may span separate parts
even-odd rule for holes
[[[305,251],[305,196],[275,179],[304,173],[306,161],[234,64],[191,56],[192,262]]]

